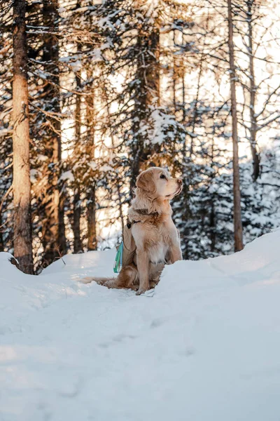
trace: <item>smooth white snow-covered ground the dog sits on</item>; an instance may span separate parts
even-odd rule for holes
[[[39,276],[0,253],[0,420],[279,421],[279,250],[177,262],[139,297],[76,281],[114,250]]]

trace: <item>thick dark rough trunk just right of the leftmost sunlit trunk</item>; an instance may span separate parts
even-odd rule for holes
[[[50,74],[50,83],[44,88],[46,111],[60,113],[59,103],[59,45],[52,28],[57,26],[57,0],[43,2],[43,23],[49,27],[44,34],[43,63],[45,72]],[[45,200],[45,224],[43,226],[44,260],[48,265],[66,253],[64,225],[64,199],[59,188],[60,166],[62,160],[61,124],[58,116],[45,116],[48,125],[45,154],[48,156],[48,192]]]

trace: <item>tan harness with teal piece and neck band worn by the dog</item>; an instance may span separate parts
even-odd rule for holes
[[[158,217],[158,212],[148,213],[148,209],[135,209],[135,213],[141,216]],[[136,252],[136,244],[132,236],[132,225],[142,222],[141,220],[128,220],[123,229],[123,241],[117,247],[117,254],[113,266],[113,272],[118,274],[123,266],[131,265]]]

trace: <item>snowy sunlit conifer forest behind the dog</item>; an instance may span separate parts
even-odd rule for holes
[[[183,179],[183,258],[280,225],[274,0],[2,0],[0,251],[113,248],[137,175]]]

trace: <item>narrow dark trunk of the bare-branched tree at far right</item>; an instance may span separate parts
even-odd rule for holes
[[[253,28],[252,28],[252,6],[253,1],[247,1],[247,23],[248,23],[248,48],[249,48],[249,70],[250,70],[250,146],[253,159],[253,173],[252,178],[255,182],[260,175],[260,155],[257,149],[257,121],[255,119],[255,69],[253,62]]]

